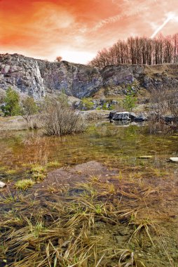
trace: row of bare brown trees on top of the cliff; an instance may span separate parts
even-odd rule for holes
[[[178,62],[178,33],[151,39],[129,37],[118,40],[110,48],[104,48],[88,63],[96,67],[118,64],[157,65]]]

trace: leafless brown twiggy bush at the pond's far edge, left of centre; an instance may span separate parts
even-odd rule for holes
[[[81,115],[56,99],[50,99],[46,102],[44,121],[48,136],[64,136],[85,129]]]

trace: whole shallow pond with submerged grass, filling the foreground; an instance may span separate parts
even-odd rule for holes
[[[177,155],[178,134],[148,126],[1,132],[0,266],[177,267]],[[15,190],[38,165],[48,178]]]

